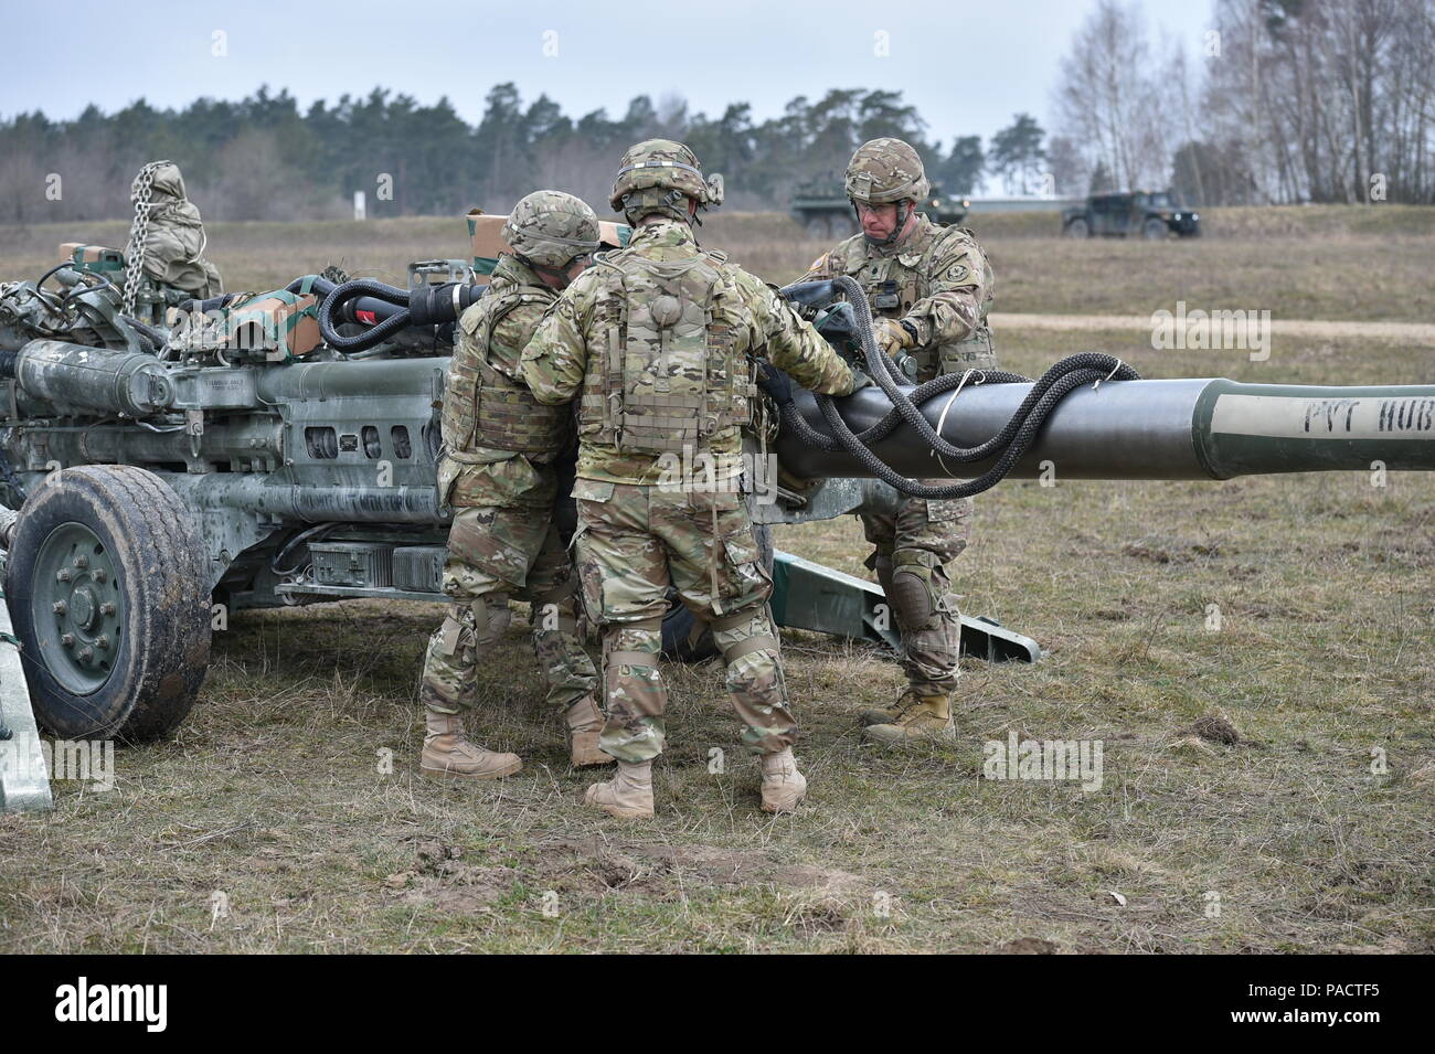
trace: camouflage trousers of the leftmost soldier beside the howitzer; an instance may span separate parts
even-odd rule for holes
[[[548,703],[567,708],[598,687],[574,617],[577,581],[548,509],[459,509],[449,528],[443,625],[423,660],[423,706],[442,713],[469,710],[478,695],[478,665],[508,628],[509,597],[532,604],[534,651]]]

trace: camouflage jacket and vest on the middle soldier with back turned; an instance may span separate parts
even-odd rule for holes
[[[653,284],[659,280],[641,265],[633,265],[641,264],[631,260],[634,254],[672,265],[703,257],[695,271],[715,283],[710,295],[705,294],[702,303],[664,304],[664,298],[677,298]],[[663,317],[672,318],[669,326],[677,336],[659,341],[656,333]],[[693,317],[699,318],[696,337]],[[639,341],[637,351],[629,341],[633,328],[640,336],[653,334],[651,340]],[[696,347],[707,348],[706,360],[702,354],[693,357],[695,340]],[[639,351],[646,371],[634,374],[631,366],[624,370],[626,359]],[[772,288],[726,262],[722,254],[705,255],[687,224],[662,219],[639,227],[626,250],[607,254],[607,262],[598,262],[568,287],[524,350],[522,376],[541,403],[560,404],[581,396],[580,478],[656,483],[673,478],[674,457],[656,453],[651,437],[624,445],[624,417],[611,407],[621,407],[626,400],[641,407],[644,399],[651,404],[657,400],[649,390],[657,386],[690,393],[695,379],[689,374],[696,363],[702,373],[697,390],[710,393],[705,396],[709,412],[697,449],[682,457],[684,475],[686,466],[692,466],[693,476],[703,472],[709,479],[730,479],[740,470],[742,435],[736,422],[743,419],[743,400],[752,397],[749,359],[758,354],[812,391],[847,394],[855,383],[847,363]],[[707,384],[712,387],[705,389]],[[669,403],[680,407],[684,399],[693,397],[674,396]],[[673,420],[680,413],[666,412]]]

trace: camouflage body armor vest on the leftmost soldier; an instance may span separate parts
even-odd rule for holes
[[[492,304],[481,300],[484,317],[469,337],[471,354],[455,354],[443,394],[443,442],[455,460],[475,447],[515,453],[551,453],[567,442],[568,409],[544,406],[522,384],[489,361],[494,328],[522,304],[547,308],[557,298],[551,290],[518,285],[499,293]],[[522,348],[514,348],[517,369]]]

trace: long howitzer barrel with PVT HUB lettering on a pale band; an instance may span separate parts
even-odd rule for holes
[[[1030,389],[969,384],[920,409],[949,443],[974,447],[1000,432]],[[798,390],[795,402],[815,430],[832,435],[812,393]],[[857,433],[891,410],[875,386],[835,403]],[[871,475],[852,455],[819,450],[786,429],[775,449],[782,467],[805,479]],[[897,472],[921,479],[970,479],[1000,456],[943,462],[905,423],[871,449]],[[1243,384],[1220,377],[1086,384],[1056,406],[1010,476],[1039,476],[1045,462],[1066,479],[1230,479],[1369,469],[1373,462],[1429,470],[1435,386]]]

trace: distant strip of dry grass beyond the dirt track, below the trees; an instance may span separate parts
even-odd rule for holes
[[[996,268],[997,310],[1039,314],[1145,314],[1188,308],[1269,310],[1276,318],[1431,321],[1435,208],[1379,205],[1215,209],[1210,237],[1194,241],[1071,241],[1043,214],[973,218]],[[128,225],[0,227],[4,274],[34,277],[65,241],[122,245]],[[208,255],[225,288],[278,288],[303,271],[337,264],[402,285],[413,260],[464,257],[462,217],[211,224]],[[705,244],[784,283],[827,242],[781,214],[715,214]]]

